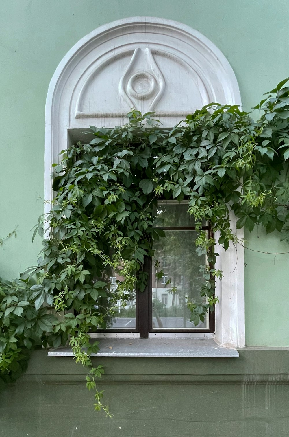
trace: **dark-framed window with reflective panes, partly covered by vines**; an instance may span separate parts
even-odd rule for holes
[[[188,205],[177,201],[160,201],[157,206],[155,226],[165,231],[165,237],[155,243],[155,256],[145,260],[148,284],[145,291],[127,296],[127,305],[114,304],[114,316],[106,321],[102,333],[135,333],[135,336],[168,336],[178,333],[213,332],[214,315],[207,315],[204,322],[194,326],[190,321],[187,300],[200,302],[203,282],[200,265],[206,264],[206,256],[196,254],[194,244],[197,232]],[[208,223],[203,229],[209,232]],[[162,270],[164,268],[165,272]],[[110,283],[116,285],[115,276]],[[109,304],[108,304],[109,305]],[[105,327],[105,326],[104,326]]]

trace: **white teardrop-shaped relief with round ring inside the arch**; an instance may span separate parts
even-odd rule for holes
[[[165,90],[165,79],[150,49],[134,50],[131,61],[119,83],[120,95],[131,108],[155,111]]]

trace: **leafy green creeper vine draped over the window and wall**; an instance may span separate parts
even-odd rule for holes
[[[195,325],[217,302],[215,278],[222,273],[214,268],[215,236],[225,249],[238,243],[231,210],[237,228],[252,231],[262,225],[288,241],[285,83],[255,107],[260,111],[257,122],[237,106],[214,103],[172,129],[160,127],[151,113],[131,111],[127,125],[90,126],[92,141],[62,152],[62,162],[54,165],[51,213],[39,219],[34,232],[43,235],[46,227],[51,229],[38,266],[22,285],[3,284],[0,291],[1,374],[12,371],[23,350],[38,340],[53,347],[70,341],[76,361],[91,365],[97,342],[89,343],[89,332],[106,326],[117,301],[125,305],[135,288],[145,287],[144,259],[153,256],[153,243],[164,236],[153,227],[158,199],[189,202],[198,232],[196,251],[208,255],[208,264],[201,267],[202,303],[188,301]],[[206,220],[211,223],[209,236],[202,229]],[[123,280],[111,289],[113,271]],[[37,283],[31,287],[33,278]],[[43,305],[65,315],[47,315]],[[101,367],[91,368],[88,388],[96,389],[95,377],[102,372]],[[96,390],[95,396],[96,409],[106,409],[102,392]]]

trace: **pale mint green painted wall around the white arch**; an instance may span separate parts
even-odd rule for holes
[[[227,57],[245,109],[288,76],[289,3],[282,0],[14,0],[0,10],[0,253],[12,279],[33,265],[41,243],[30,229],[43,211],[44,108],[49,81],[65,53],[98,26],[122,17],[155,16],[199,30]],[[289,250],[278,236],[247,236],[251,248]],[[289,346],[287,255],[246,251],[249,345]],[[270,302],[272,301],[272,302]],[[258,305],[256,307],[256,305]]]

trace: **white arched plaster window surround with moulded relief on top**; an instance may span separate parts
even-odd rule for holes
[[[125,123],[132,107],[155,111],[163,126],[212,101],[241,104],[237,79],[220,50],[200,32],[163,18],[132,17],[106,24],[64,56],[45,106],[45,199],[52,198],[51,166],[89,125]],[[46,207],[49,211],[49,205]],[[232,229],[235,230],[232,214]],[[243,238],[243,230],[237,230]],[[215,339],[244,347],[244,249],[220,253]]]

